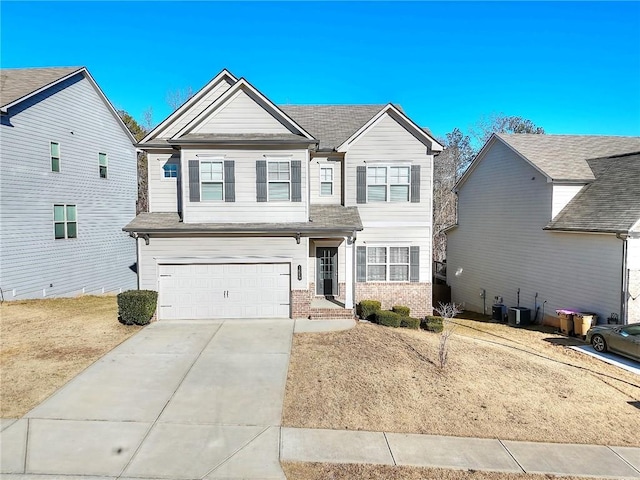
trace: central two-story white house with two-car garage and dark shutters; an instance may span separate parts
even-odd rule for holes
[[[223,70],[139,147],[149,212],[125,231],[160,319],[431,313],[442,146],[397,107],[276,106]]]

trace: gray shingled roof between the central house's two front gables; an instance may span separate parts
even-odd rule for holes
[[[320,141],[319,149],[335,149],[371,120],[385,105],[278,105]]]

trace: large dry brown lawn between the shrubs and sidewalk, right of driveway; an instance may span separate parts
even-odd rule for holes
[[[295,335],[283,424],[640,446],[637,375],[548,329],[454,322],[444,370],[426,331],[361,322]]]

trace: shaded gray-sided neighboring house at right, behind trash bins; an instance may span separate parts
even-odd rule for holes
[[[640,321],[640,138],[493,135],[456,185],[452,300]],[[483,298],[484,295],[484,298]],[[537,297],[536,297],[537,295]],[[605,320],[606,321],[606,320]]]

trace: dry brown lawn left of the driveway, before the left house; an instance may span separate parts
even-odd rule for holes
[[[0,417],[21,417],[140,327],[118,322],[116,297],[0,306]]]

